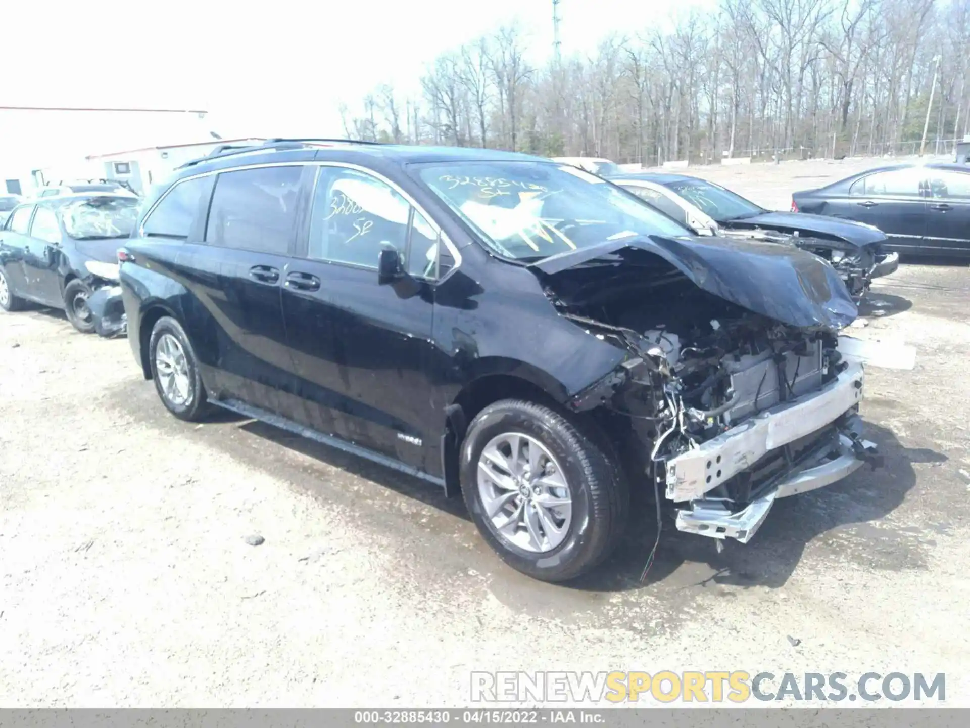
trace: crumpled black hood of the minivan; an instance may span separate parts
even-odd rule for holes
[[[568,250],[529,268],[555,276],[611,253],[634,265],[649,265],[645,253],[657,255],[702,290],[792,326],[836,330],[857,316],[849,291],[828,263],[804,250],[775,243],[630,237]]]

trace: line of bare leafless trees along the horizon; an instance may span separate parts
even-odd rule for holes
[[[619,162],[941,153],[970,132],[970,0],[721,0],[669,32],[527,59],[503,25],[429,64],[420,92],[340,106],[355,139]],[[934,76],[936,83],[934,87]]]

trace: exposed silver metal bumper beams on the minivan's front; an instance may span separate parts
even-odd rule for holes
[[[850,413],[862,397],[860,362],[850,362],[818,392],[755,415],[727,432],[669,460],[666,497],[689,501],[678,511],[677,528],[742,544],[755,535],[777,498],[803,493],[846,478],[875,455],[876,446],[860,439],[861,422]],[[765,455],[837,426],[837,437],[824,438],[799,456],[792,469],[773,480],[770,490],[740,510],[731,502],[706,497],[727,480],[758,466]]]

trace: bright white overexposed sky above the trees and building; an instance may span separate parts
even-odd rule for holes
[[[692,7],[714,4],[561,0],[562,50],[592,54],[610,33],[663,29]],[[547,58],[552,0],[11,0],[0,105],[210,114],[178,123],[73,115],[66,123],[64,115],[0,110],[0,167],[32,158],[40,147],[47,157],[106,153],[181,143],[186,135],[204,139],[208,131],[225,138],[342,136],[341,101],[359,107],[380,83],[415,92],[437,54],[513,20],[528,34],[532,60]]]

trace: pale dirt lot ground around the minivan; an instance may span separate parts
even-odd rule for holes
[[[853,164],[703,172],[784,209]],[[0,705],[465,705],[471,670],[662,669],[943,672],[970,705],[970,269],[873,294],[857,334],[918,347],[869,370],[884,469],[780,501],[749,546],[664,530],[646,584],[638,514],[568,586],[511,572],[432,487],[180,422],[126,341],[0,312]]]

